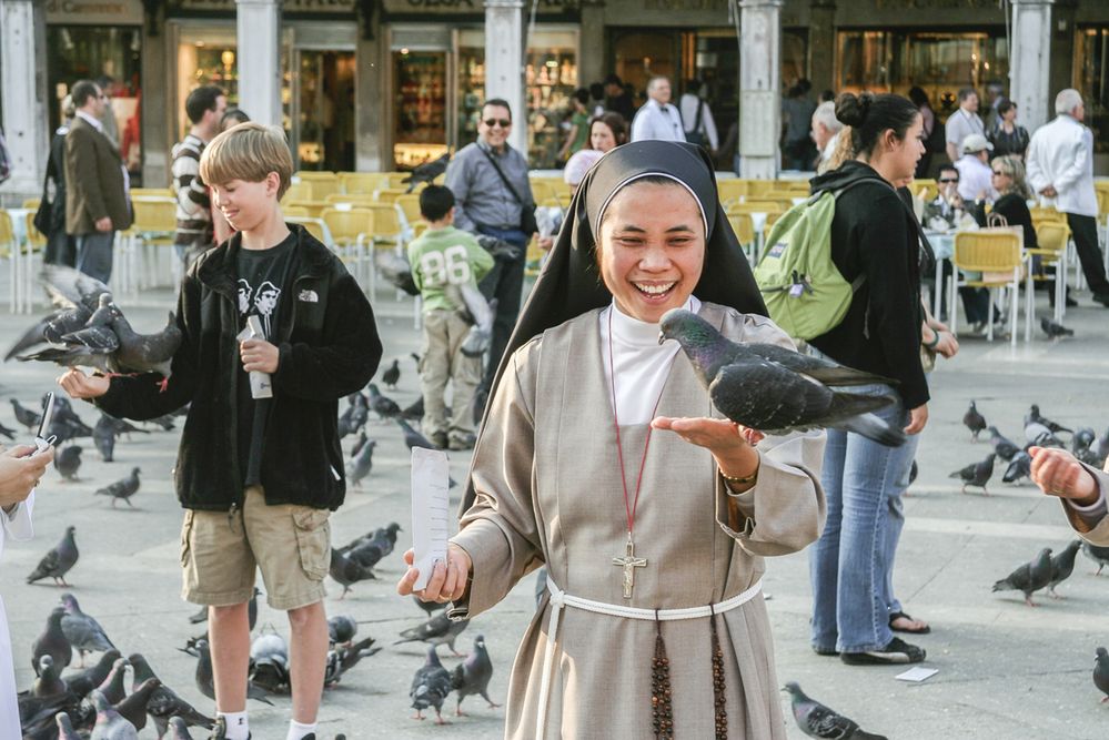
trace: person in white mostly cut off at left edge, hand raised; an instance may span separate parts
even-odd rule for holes
[[[6,537],[30,539],[34,486],[53,459],[53,447],[31,457],[34,447],[22,445],[0,453],[0,553]],[[16,669],[11,657],[8,617],[0,598],[0,738],[20,738]]]

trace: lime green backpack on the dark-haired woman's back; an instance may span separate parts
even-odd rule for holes
[[[795,339],[811,339],[835,328],[866,281],[860,274],[848,283],[831,261],[836,201],[865,182],[881,181],[856,180],[837,191],[813,195],[786,211],[766,237],[755,281],[770,318]]]

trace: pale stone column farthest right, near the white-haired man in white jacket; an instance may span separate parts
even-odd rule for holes
[[[1029,131],[1055,115],[1049,83],[1052,6],[1055,0],[1012,0],[1009,94]]]

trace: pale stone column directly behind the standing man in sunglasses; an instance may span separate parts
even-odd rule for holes
[[[522,0],[485,0],[485,97],[508,101],[513,121],[508,143],[526,158]]]

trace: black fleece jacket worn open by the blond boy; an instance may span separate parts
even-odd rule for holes
[[[303,226],[290,281],[292,308],[282,321],[281,356],[266,420],[262,486],[266,504],[336,509],[346,483],[339,446],[339,399],[377,371],[382,346],[373,310],[354,278]],[[137,420],[190,403],[174,470],[178,498],[190,509],[228,510],[242,501],[249,450],[236,440],[238,374],[242,372],[236,303],[235,234],[205,252],[181,285],[177,322],[184,339],[164,392],[161,375],[112,378],[97,405]],[[284,313],[284,312],[282,312]]]

